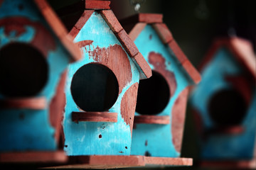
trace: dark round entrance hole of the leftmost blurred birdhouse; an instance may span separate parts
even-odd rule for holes
[[[35,96],[48,80],[48,63],[35,47],[11,43],[0,50],[0,77],[4,96]]]

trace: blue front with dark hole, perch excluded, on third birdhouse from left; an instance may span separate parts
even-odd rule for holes
[[[178,96],[190,84],[191,78],[180,62],[159,38],[151,25],[146,25],[134,40],[152,69],[152,77],[139,82],[135,115],[168,116],[166,125],[136,123],[132,135],[132,154],[151,157],[179,157],[172,135],[172,110]],[[147,83],[146,83],[147,81]],[[140,94],[141,93],[141,94]],[[186,107],[186,102],[183,107]]]

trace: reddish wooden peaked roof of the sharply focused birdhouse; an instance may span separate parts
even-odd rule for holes
[[[149,67],[149,64],[146,62],[142,54],[139,52],[137,46],[134,44],[131,38],[129,38],[129,35],[122,28],[119,21],[117,20],[117,17],[114,16],[112,10],[110,10],[110,1],[86,0],[79,1],[78,3],[73,4],[71,6],[73,6],[73,8],[76,8],[76,12],[78,12],[79,15],[78,21],[75,23],[75,25],[73,25],[69,33],[69,35],[73,39],[76,37],[76,35],[78,35],[78,33],[85,25],[85,23],[88,21],[92,13],[95,10],[97,10],[97,12],[101,14],[102,18],[110,27],[114,35],[117,37],[119,42],[121,42],[122,46],[124,47],[124,50],[127,52],[129,57],[131,57],[134,64],[136,64],[140,72],[140,79],[146,79],[151,77],[152,72],[151,68]],[[57,12],[60,16],[68,16],[68,14],[73,15],[73,13],[75,12],[73,8],[67,6],[65,8],[58,10]],[[81,10],[82,13],[79,13],[79,11]],[[70,25],[70,22],[73,22],[73,20],[77,17],[77,15],[73,15],[70,18],[68,18],[68,21],[66,21],[65,23],[67,23],[67,25]]]

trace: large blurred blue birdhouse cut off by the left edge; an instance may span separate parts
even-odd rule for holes
[[[80,49],[45,0],[0,1],[0,162],[65,162],[65,69]]]

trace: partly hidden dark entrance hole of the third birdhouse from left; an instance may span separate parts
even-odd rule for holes
[[[170,99],[169,85],[158,72],[139,81],[136,111],[142,115],[157,115],[166,108]]]

